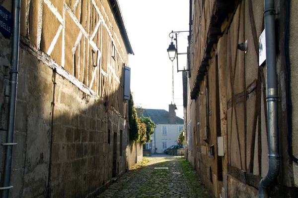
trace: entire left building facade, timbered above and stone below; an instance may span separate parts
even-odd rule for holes
[[[11,0],[0,4],[11,12]],[[133,50],[118,1],[21,0],[20,9],[10,197],[95,196],[142,159],[142,145],[129,140],[124,75]],[[11,40],[0,34],[0,46],[5,143]]]

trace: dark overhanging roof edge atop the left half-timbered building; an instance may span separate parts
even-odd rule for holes
[[[125,28],[125,24],[124,24],[122,13],[121,13],[121,10],[120,10],[120,7],[119,7],[118,0],[109,0],[109,1],[110,1],[111,9],[112,9],[113,14],[115,16],[115,19],[117,21],[117,24],[119,26],[120,33],[123,37],[123,42],[125,44],[125,47],[126,47],[127,51],[130,54],[135,55],[134,51],[132,49],[132,46],[129,42],[128,34],[127,34],[127,31],[126,31],[126,28]]]

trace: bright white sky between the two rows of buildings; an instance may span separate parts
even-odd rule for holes
[[[135,105],[165,109],[172,101],[172,62],[169,33],[189,30],[188,0],[118,0],[135,55],[129,55],[131,91]],[[187,51],[188,33],[178,35],[178,52]],[[174,42],[175,43],[175,42]],[[179,70],[186,55],[179,55]],[[174,103],[183,118],[182,72],[174,60]]]

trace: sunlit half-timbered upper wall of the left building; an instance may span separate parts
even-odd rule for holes
[[[11,9],[10,0],[2,5]],[[124,113],[128,52],[108,0],[21,0],[20,28],[21,40]]]

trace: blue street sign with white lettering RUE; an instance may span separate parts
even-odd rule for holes
[[[10,38],[12,25],[12,14],[0,5],[0,32],[4,37]]]

